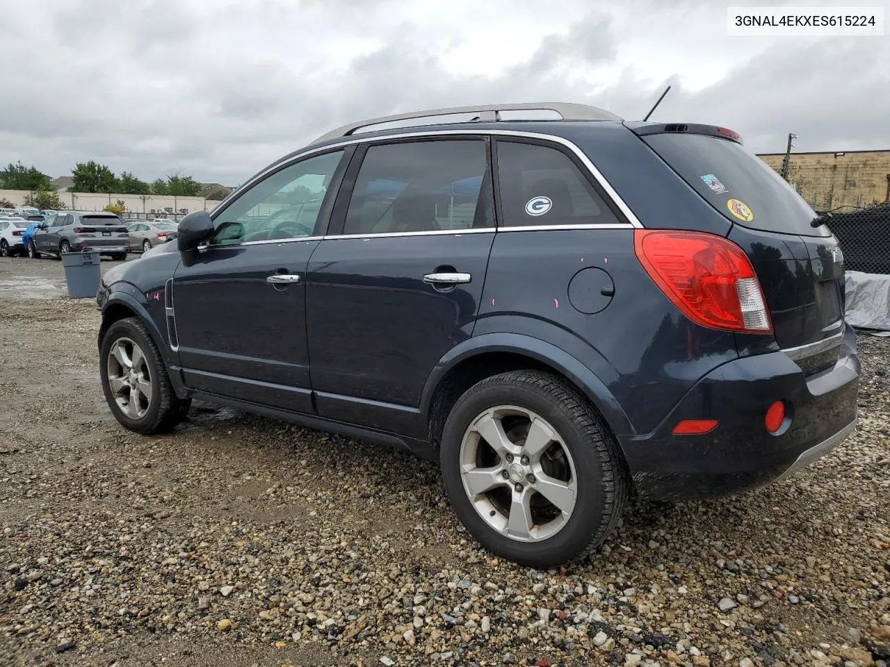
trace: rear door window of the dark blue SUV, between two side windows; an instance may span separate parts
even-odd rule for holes
[[[485,141],[371,146],[361,163],[344,234],[392,234],[492,225]]]

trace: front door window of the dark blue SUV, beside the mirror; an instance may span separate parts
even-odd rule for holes
[[[311,237],[343,154],[309,157],[256,183],[214,219],[210,245]]]

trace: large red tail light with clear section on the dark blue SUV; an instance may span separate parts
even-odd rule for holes
[[[754,267],[732,241],[693,231],[636,229],[634,245],[649,277],[696,324],[773,333]]]

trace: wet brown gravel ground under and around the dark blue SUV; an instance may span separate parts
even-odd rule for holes
[[[890,340],[858,337],[861,425],[825,459],[637,502],[536,572],[478,549],[409,454],[205,404],[165,437],[118,427],[93,302],[4,289],[61,271],[0,260],[0,664],[890,660]]]

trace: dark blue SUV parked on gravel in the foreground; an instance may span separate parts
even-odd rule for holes
[[[377,118],[109,270],[102,386],[140,433],[200,398],[438,460],[482,545],[553,566],[632,492],[765,485],[854,429],[823,222],[723,127],[562,103]]]

